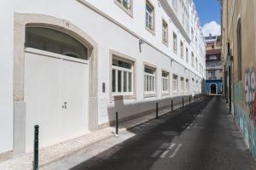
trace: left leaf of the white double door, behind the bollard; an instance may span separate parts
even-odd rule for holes
[[[55,120],[59,118],[59,74],[61,59],[26,53],[25,102],[26,150],[32,150],[33,126],[38,124],[40,146],[58,142]]]

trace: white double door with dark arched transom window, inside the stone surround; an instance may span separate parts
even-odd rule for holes
[[[88,132],[88,48],[64,31],[26,27],[26,151],[33,126],[47,147]]]

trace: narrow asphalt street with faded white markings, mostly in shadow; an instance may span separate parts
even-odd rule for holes
[[[232,116],[227,114],[224,100],[214,96],[44,168],[250,170],[256,169],[256,163]]]

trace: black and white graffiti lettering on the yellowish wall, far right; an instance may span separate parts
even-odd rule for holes
[[[255,69],[250,68],[246,70],[243,87],[244,87],[244,95],[245,102],[250,111],[250,118],[254,122],[254,126],[256,127],[256,77],[255,77]]]

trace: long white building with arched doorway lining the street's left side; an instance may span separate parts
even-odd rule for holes
[[[192,0],[2,0],[0,155],[40,148],[201,93]]]

